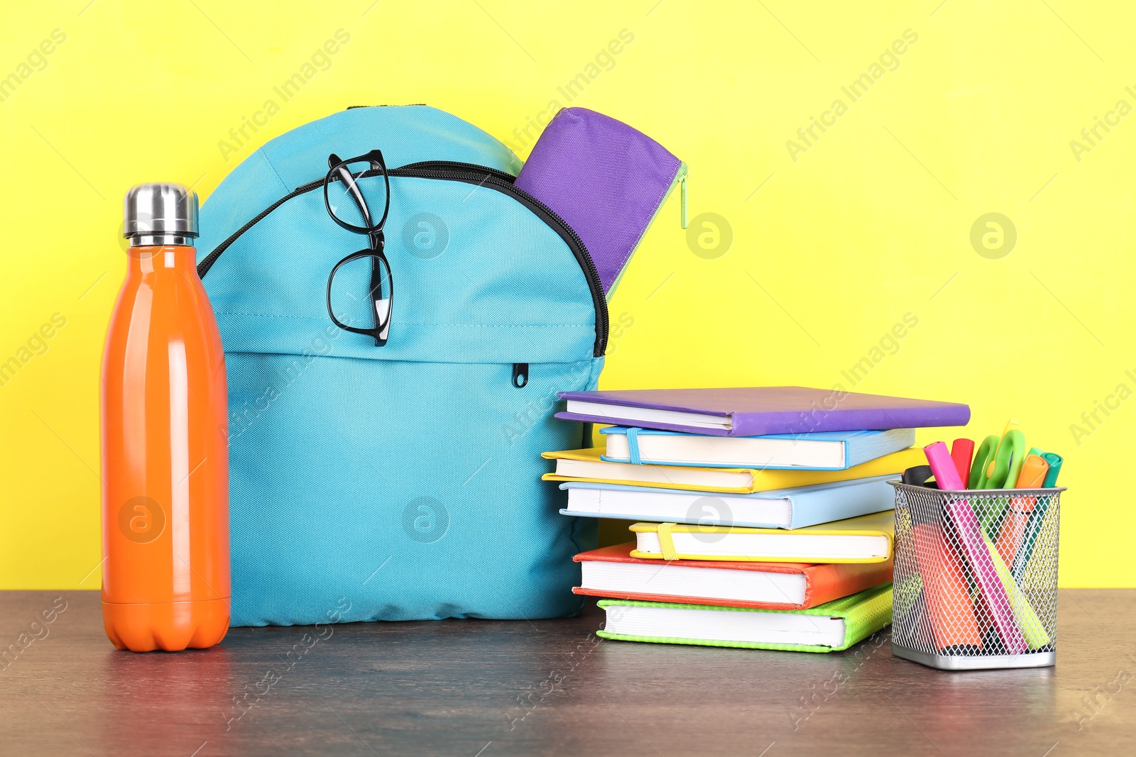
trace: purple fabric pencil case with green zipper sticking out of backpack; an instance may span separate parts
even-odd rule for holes
[[[579,235],[609,297],[676,185],[686,228],[686,163],[642,132],[586,108],[553,117],[515,183]]]

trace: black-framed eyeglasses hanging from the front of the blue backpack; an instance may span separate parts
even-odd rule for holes
[[[327,314],[332,322],[344,331],[371,336],[375,338],[375,346],[381,347],[386,344],[391,329],[391,304],[394,296],[391,263],[383,252],[385,244],[383,225],[386,224],[386,215],[391,210],[391,178],[386,173],[386,162],[383,160],[382,151],[371,150],[348,160],[340,160],[339,155],[332,153],[327,157],[327,165],[331,166],[324,178],[324,207],[327,208],[327,215],[341,227],[356,234],[366,234],[370,241],[369,249],[352,252],[332,268],[327,277]],[[378,175],[383,176],[382,188],[376,182],[367,182],[365,186],[358,180]],[[379,205],[383,208],[383,215],[375,221],[371,209],[377,209]],[[332,311],[332,281],[335,280],[336,271],[361,258],[371,259],[368,295],[375,318],[374,328],[348,326]]]

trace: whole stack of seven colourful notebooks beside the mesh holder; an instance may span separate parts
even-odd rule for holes
[[[966,405],[804,387],[563,393],[557,418],[611,423],[549,452],[565,515],[634,521],[585,552],[599,636],[833,651],[892,619],[894,493],[919,427]]]

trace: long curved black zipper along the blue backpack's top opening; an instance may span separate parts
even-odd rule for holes
[[[381,171],[377,170],[368,170],[364,171],[360,175],[360,178],[378,176],[379,174]],[[583,239],[580,239],[579,235],[577,235],[576,232],[568,226],[568,222],[565,221],[565,219],[533,195],[512,185],[516,177],[495,168],[450,160],[426,160],[417,163],[409,163],[407,166],[402,166],[401,168],[387,169],[387,175],[403,178],[465,182],[466,184],[476,184],[477,186],[488,186],[498,192],[501,192],[502,194],[512,196],[515,200],[533,211],[533,213],[544,221],[545,225],[560,235],[560,238],[562,238],[565,244],[568,245],[568,249],[571,250],[573,255],[576,258],[576,262],[584,271],[584,278],[587,279],[587,287],[592,293],[592,303],[595,308],[595,345],[592,354],[595,358],[603,355],[608,346],[608,300],[603,294],[603,285],[600,283],[600,274],[595,269],[595,262],[587,253],[587,249],[584,246]],[[283,205],[289,200],[318,190],[323,185],[324,179],[317,179],[315,182],[302,184],[257,213],[252,220],[235,230],[227,239],[217,245],[212,252],[201,259],[201,262],[198,263],[198,276],[204,278],[204,275],[209,272],[209,269],[212,268],[215,262],[217,262],[217,259],[220,258],[222,253],[224,253],[229,245],[236,242],[241,235],[267,218],[270,212]]]

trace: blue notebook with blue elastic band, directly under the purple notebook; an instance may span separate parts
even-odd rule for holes
[[[916,441],[914,429],[826,431],[770,436],[709,436],[611,426],[603,460],[696,468],[771,468],[842,471]]]

